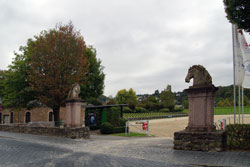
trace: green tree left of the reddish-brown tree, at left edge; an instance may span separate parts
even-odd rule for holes
[[[20,47],[19,50],[27,52],[25,47]],[[15,53],[15,58],[9,65],[9,69],[1,72],[0,96],[4,107],[26,107],[30,100],[36,98],[36,93],[29,85],[28,69],[26,54]]]

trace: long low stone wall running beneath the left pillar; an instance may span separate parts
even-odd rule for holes
[[[88,127],[82,128],[57,128],[57,127],[29,127],[25,125],[0,125],[0,131],[27,133],[34,135],[56,136],[71,139],[89,139]]]

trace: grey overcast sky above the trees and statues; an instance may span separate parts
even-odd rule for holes
[[[56,23],[72,21],[102,60],[105,92],[137,94],[191,85],[201,64],[215,86],[233,82],[232,32],[222,0],[0,0],[0,69],[13,51]]]

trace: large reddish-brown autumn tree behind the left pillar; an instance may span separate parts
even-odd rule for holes
[[[27,42],[28,76],[42,103],[53,109],[59,121],[60,106],[73,83],[86,82],[88,72],[86,45],[79,31],[70,22],[42,31]]]

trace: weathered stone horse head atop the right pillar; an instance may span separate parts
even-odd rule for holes
[[[207,72],[207,70],[201,65],[193,65],[189,68],[185,81],[189,83],[192,78],[192,87],[207,87],[213,85],[212,77]]]

